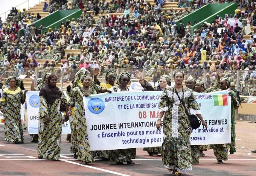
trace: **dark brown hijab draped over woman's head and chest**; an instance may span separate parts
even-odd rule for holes
[[[57,86],[50,85],[50,80],[53,77],[56,77],[56,79],[58,78],[55,74],[50,74],[47,85],[44,86],[39,92],[39,96],[43,96],[49,104],[54,103],[56,99],[60,98],[59,88]]]

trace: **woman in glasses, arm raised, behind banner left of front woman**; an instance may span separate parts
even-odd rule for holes
[[[158,86],[151,86],[149,82],[143,79],[142,73],[139,70],[136,70],[135,74],[139,79],[140,85],[147,91],[165,91],[167,85],[171,85],[171,78],[166,74],[160,76]],[[147,151],[149,156],[157,156],[158,153],[161,153],[161,147],[147,147],[143,148],[143,151]]]

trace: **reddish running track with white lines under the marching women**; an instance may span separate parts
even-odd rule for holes
[[[250,151],[256,147],[256,124],[238,121],[236,124],[236,148],[223,165],[217,164],[213,150],[205,151],[200,164],[184,176],[236,176],[256,175],[256,153]],[[47,161],[37,158],[37,144],[29,143],[30,137],[24,131],[25,144],[9,144],[4,141],[3,125],[0,125],[0,175],[88,175],[88,176],[161,176],[171,175],[162,165],[161,156],[148,156],[141,148],[137,149],[135,165],[116,165],[109,161],[96,160],[84,166],[69,152],[70,143],[62,135],[61,161]],[[254,146],[253,146],[254,145]],[[250,156],[248,156],[248,153]]]

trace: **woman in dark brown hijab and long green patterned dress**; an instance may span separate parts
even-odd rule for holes
[[[40,159],[59,161],[61,153],[62,114],[61,100],[67,102],[66,96],[56,86],[57,76],[51,74],[48,83],[39,93],[39,127],[37,155]]]

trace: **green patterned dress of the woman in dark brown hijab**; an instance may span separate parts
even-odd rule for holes
[[[66,101],[66,96],[59,89],[60,96]],[[38,128],[38,158],[59,161],[61,152],[61,130],[62,114],[60,112],[61,100],[56,99],[52,104],[47,103],[40,96],[39,106],[39,128]],[[48,115],[50,122],[46,123],[45,116]]]

